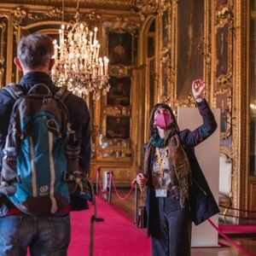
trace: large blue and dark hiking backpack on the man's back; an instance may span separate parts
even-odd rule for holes
[[[21,212],[55,213],[69,205],[69,190],[76,187],[70,184],[79,183],[81,175],[79,145],[63,103],[70,92],[63,86],[53,96],[45,84],[34,85],[26,95],[17,84],[4,88],[15,105],[3,149],[0,192]]]

